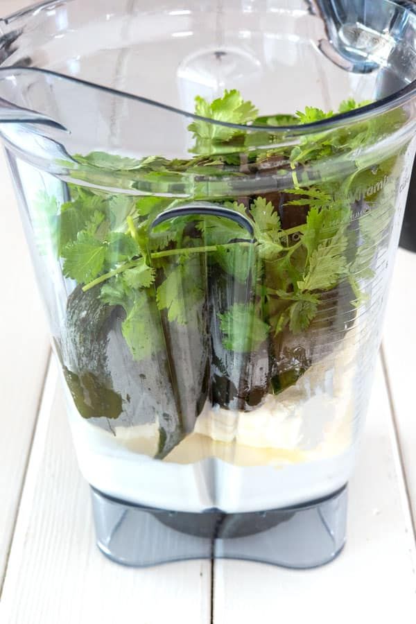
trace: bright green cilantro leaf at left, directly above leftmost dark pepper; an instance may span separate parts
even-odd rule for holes
[[[76,242],[64,248],[64,275],[76,279],[78,284],[92,281],[103,269],[105,253],[105,245],[80,232]]]

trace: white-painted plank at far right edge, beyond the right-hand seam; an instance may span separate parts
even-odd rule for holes
[[[399,250],[388,301],[383,353],[416,518],[416,254]]]

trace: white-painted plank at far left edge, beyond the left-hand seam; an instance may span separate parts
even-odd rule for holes
[[[42,392],[49,340],[3,150],[0,187],[1,589]]]

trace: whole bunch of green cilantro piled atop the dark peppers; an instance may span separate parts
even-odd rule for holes
[[[338,113],[365,104],[349,99]],[[161,318],[165,325],[189,324],[206,314],[209,280],[220,281],[224,275],[223,282],[234,280],[240,293],[235,302],[225,297],[228,309],[219,316],[223,346],[230,351],[255,350],[282,331],[306,331],[322,309],[324,293],[333,291],[336,297],[343,284],[351,287],[354,305],[361,305],[362,286],[372,278],[377,245],[392,219],[395,182],[390,173],[397,156],[374,166],[363,148],[399,128],[404,122],[400,110],[334,129],[323,125],[322,132],[305,132],[297,145],[279,148],[263,146],[275,138],[273,128],[324,122],[333,112],[306,107],[295,115],[259,116],[235,89],[211,103],[196,98],[195,112],[203,119],[189,125],[195,141],[195,155],[189,159],[136,159],[103,152],[73,157],[80,179],[85,175],[92,184],[103,184],[112,175],[120,188],[128,180],[134,189],[140,178],[157,183],[160,196],[69,184],[71,198],[60,207],[44,193],[37,202],[37,214],[43,216],[35,227],[48,230],[55,241],[64,275],[83,291],[97,287],[94,292],[103,306],[123,310],[123,337],[136,360],[164,348]],[[251,131],[250,125],[264,130]],[[331,175],[326,168],[334,157],[340,163],[335,178],[333,168]],[[308,177],[306,165],[315,163],[321,165]],[[343,163],[348,173],[343,173]],[[270,170],[277,182],[292,176],[292,187],[281,189],[280,182],[270,193],[243,198],[230,193],[227,172],[244,182],[245,175]],[[206,178],[224,177],[223,186],[214,187],[220,193],[216,203],[244,215],[254,234],[225,216],[198,214],[153,227],[159,214],[185,202],[173,199],[180,175],[191,180],[196,200],[210,199]],[[241,301],[244,292],[251,303]]]

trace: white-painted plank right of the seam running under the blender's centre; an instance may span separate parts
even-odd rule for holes
[[[214,622],[414,623],[415,543],[379,365],[358,466],[349,488],[348,541],[309,571],[216,562]]]

